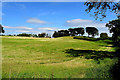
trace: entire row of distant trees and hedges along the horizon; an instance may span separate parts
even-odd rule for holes
[[[88,33],[88,37],[90,37],[90,35],[94,38],[96,35],[99,35],[98,29],[95,27],[86,27],[85,29],[82,27],[78,27],[78,28],[69,28],[68,30],[59,30],[59,31],[54,31],[52,37],[56,38],[56,37],[63,37],[63,36],[83,36],[84,33]],[[5,31],[3,30],[3,27],[0,26],[0,33],[4,33]],[[4,36],[2,34],[2,36]],[[7,36],[25,36],[25,37],[47,37],[47,38],[51,38],[51,35],[47,34],[47,33],[39,33],[39,34],[27,34],[27,33],[21,33],[21,34],[17,34],[17,35],[7,35]],[[100,37],[102,38],[107,38],[108,35],[107,33],[101,33]]]

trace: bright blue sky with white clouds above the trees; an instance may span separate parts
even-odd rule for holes
[[[3,2],[4,34],[46,32],[52,35],[62,29],[96,27],[99,33],[106,32],[111,36],[105,24],[117,19],[116,14],[107,11],[107,17],[100,21],[85,9],[84,2]]]

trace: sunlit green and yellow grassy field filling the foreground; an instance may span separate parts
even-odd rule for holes
[[[108,42],[108,41],[106,41]],[[114,52],[104,41],[61,38],[2,38],[3,78],[106,78],[116,58],[95,60],[86,54]],[[72,52],[70,52],[72,50]],[[71,53],[85,55],[71,56]],[[74,52],[75,51],[75,52]],[[85,52],[86,51],[86,52]],[[87,53],[87,51],[89,51]],[[91,52],[90,52],[91,51]],[[70,53],[70,54],[69,54]],[[89,54],[88,54],[89,55]],[[104,54],[105,55],[105,54]],[[98,55],[97,55],[98,56]]]

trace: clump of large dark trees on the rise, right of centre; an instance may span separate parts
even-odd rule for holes
[[[53,37],[63,37],[63,36],[83,36],[84,33],[88,33],[88,37],[90,35],[94,38],[96,35],[99,35],[99,31],[95,27],[86,27],[85,29],[82,27],[78,28],[69,28],[68,30],[59,30],[53,33]]]

